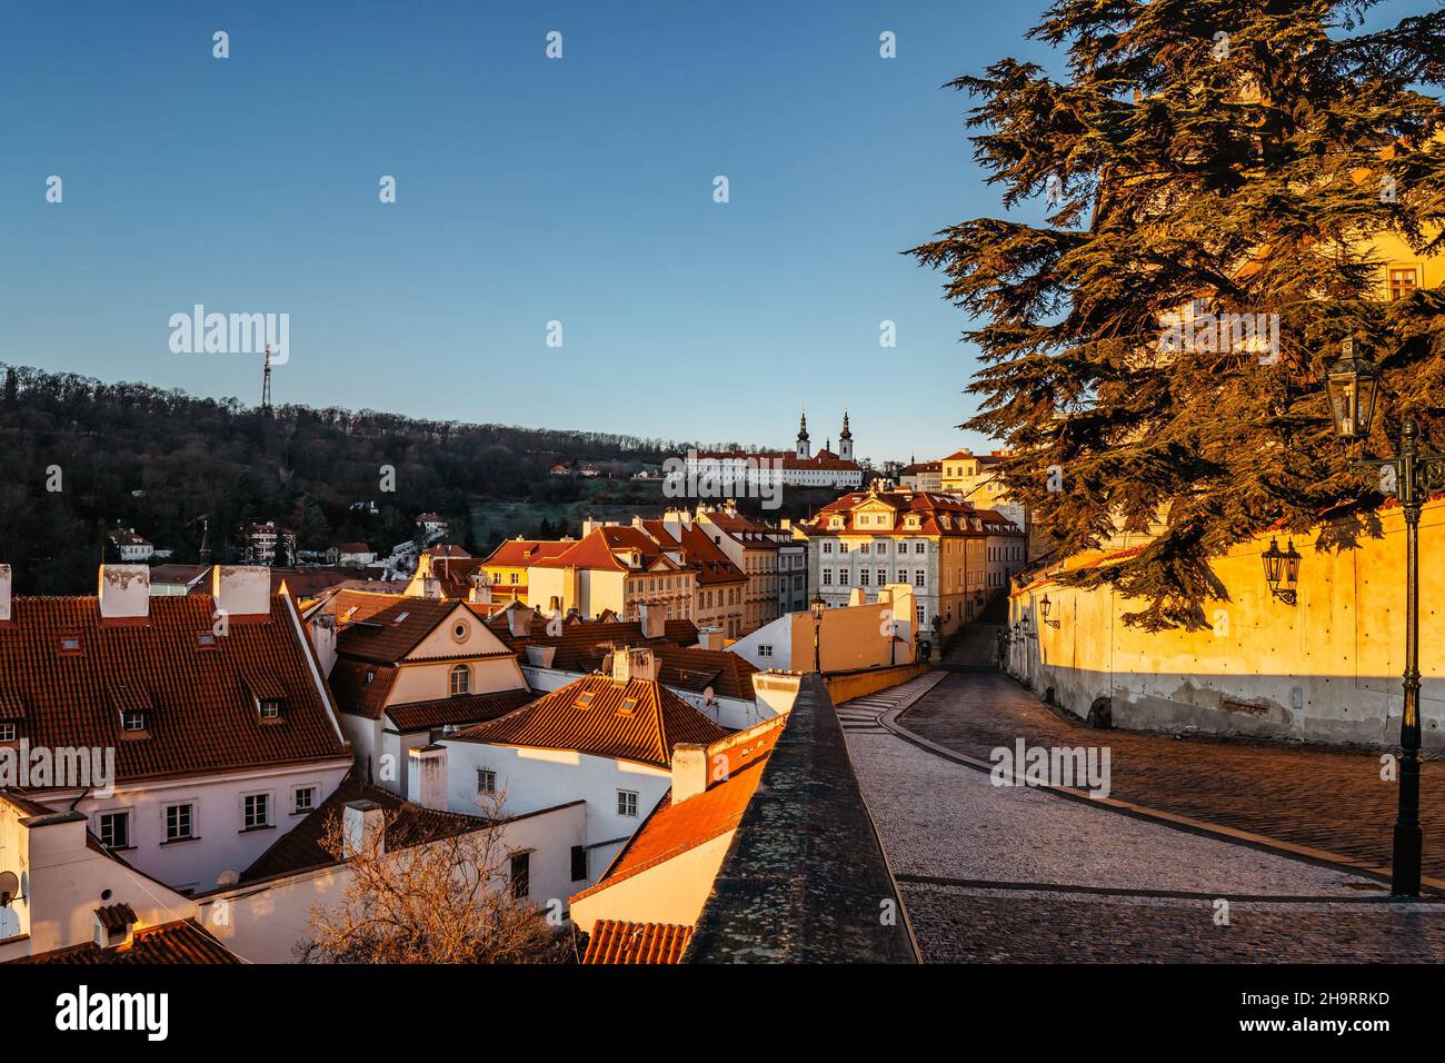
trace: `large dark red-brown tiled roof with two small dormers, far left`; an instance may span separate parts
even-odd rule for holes
[[[158,594],[146,620],[108,625],[95,597],[14,599],[0,690],[23,707],[20,738],[114,748],[123,782],[348,756],[293,603],[275,596],[221,636],[214,610],[210,594]],[[260,719],[257,691],[285,700],[280,719]],[[146,730],[123,732],[121,709],[143,709]]]

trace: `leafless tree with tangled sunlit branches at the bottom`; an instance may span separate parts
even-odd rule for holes
[[[392,826],[394,813],[386,813]],[[348,839],[331,816],[325,850],[351,872],[340,904],[312,905],[302,963],[553,963],[566,942],[512,878],[506,824],[386,852],[381,839]]]

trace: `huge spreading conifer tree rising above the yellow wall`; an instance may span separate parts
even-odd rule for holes
[[[1209,557],[1267,526],[1354,506],[1344,537],[1368,531],[1379,484],[1322,386],[1345,336],[1384,376],[1371,444],[1412,415],[1445,447],[1445,292],[1384,301],[1370,252],[1376,233],[1445,250],[1445,13],[1366,32],[1371,3],[1061,0],[1030,36],[1066,80],[1003,59],[951,82],[1004,205],[1049,202],[1045,224],[975,218],[909,252],[972,318],[964,427],[1007,444],[1001,477],[1061,554],[1163,516],[1084,577],[1142,599],[1149,629],[1205,626]],[[1162,353],[1194,299],[1277,314],[1277,360]]]

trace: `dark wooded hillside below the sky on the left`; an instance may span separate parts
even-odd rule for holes
[[[292,528],[302,551],[347,541],[384,551],[412,538],[416,513],[435,511],[480,548],[468,529],[474,498],[568,502],[579,486],[549,476],[558,463],[624,476],[692,445],[371,409],[263,414],[143,383],[0,373],[0,563],[17,593],[92,593],[104,531],[117,524],[194,561],[205,519],[225,561],[240,557],[238,532],[253,522]],[[376,513],[353,508],[370,502]]]

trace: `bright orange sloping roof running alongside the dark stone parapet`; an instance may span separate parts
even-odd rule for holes
[[[767,725],[738,732],[721,748],[709,748],[709,771],[712,758],[724,755],[728,759],[727,778],[721,782],[712,782],[707,791],[679,804],[672,803],[670,790],[663,794],[647,819],[623,846],[623,850],[613,859],[603,878],[588,889],[575,894],[572,901],[601,892],[621,879],[665,863],[734,830],[757,790],[767,758],[786,725],[788,717],[780,716],[776,720],[769,720]]]

